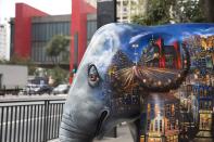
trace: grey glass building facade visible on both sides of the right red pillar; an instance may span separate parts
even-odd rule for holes
[[[90,42],[97,30],[97,17],[91,15],[87,22],[87,43]],[[56,59],[51,59],[46,54],[47,43],[55,35],[71,36],[71,15],[36,17],[32,22],[32,61],[42,64],[52,64],[54,61],[67,63],[70,52],[61,54]],[[70,51],[70,47],[67,47]],[[78,50],[76,50],[78,51]],[[65,61],[65,62],[63,62]]]

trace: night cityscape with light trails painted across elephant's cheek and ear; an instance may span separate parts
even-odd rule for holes
[[[187,75],[189,59],[184,50],[185,44],[174,41],[173,46],[165,46],[163,37],[154,39],[153,36],[141,51],[137,52],[137,48],[140,48],[138,44],[128,47],[135,50],[134,60],[123,50],[118,50],[113,56],[105,78],[111,85],[109,89],[113,90],[109,94],[112,95],[112,112],[139,111],[140,94],[144,91],[167,92]],[[141,54],[139,60],[138,54]]]

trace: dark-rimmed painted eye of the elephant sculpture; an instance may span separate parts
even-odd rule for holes
[[[88,67],[88,83],[90,87],[97,87],[100,82],[100,76],[98,74],[96,65],[91,64]]]

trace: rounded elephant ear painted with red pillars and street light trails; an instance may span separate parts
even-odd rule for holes
[[[167,92],[177,89],[189,72],[190,57],[185,44],[181,46],[179,53],[172,50],[171,57],[172,56],[171,64],[168,64],[166,60],[168,60],[169,54],[165,54],[164,56],[164,54],[159,51],[155,52],[153,50],[151,52],[151,49],[144,51],[137,67],[140,86],[149,91],[155,92]]]

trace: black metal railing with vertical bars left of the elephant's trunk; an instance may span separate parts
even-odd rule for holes
[[[0,100],[0,142],[47,142],[59,137],[65,99]]]

